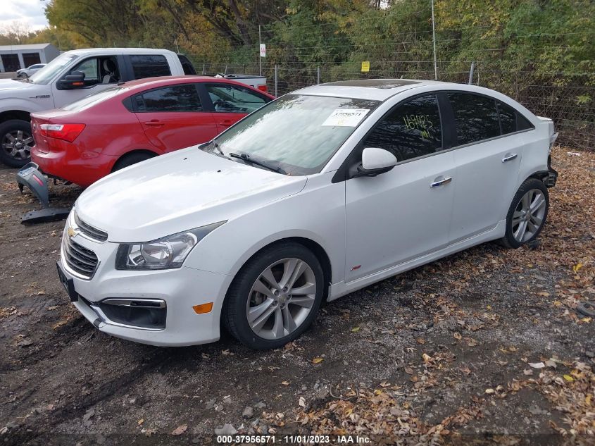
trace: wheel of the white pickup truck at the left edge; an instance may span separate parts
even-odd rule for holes
[[[31,124],[26,120],[10,119],[0,124],[0,161],[6,166],[25,166],[34,144]]]

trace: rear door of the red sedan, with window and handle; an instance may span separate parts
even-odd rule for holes
[[[203,109],[196,82],[149,89],[132,97],[146,137],[165,153],[213,139],[213,113]]]

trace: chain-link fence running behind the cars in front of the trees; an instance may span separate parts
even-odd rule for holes
[[[252,64],[207,63],[193,61],[199,74],[215,75],[218,73],[235,73],[258,75],[260,67],[258,60]],[[389,68],[387,61],[370,61],[370,71],[337,72],[334,66],[288,67],[268,66],[263,63],[262,75],[267,78],[268,90],[276,96],[281,96],[296,89],[315,85],[318,82],[333,82],[337,80],[366,79],[366,78],[416,78],[434,79],[432,63],[400,61],[401,70]],[[441,63],[438,64],[439,80],[447,82],[467,83],[470,78],[470,66],[463,70],[449,70],[441,75]],[[374,66],[383,68],[373,69]],[[553,119],[556,129],[560,132],[558,144],[575,149],[595,149],[595,87],[585,85],[525,85],[521,82],[511,83],[499,80],[499,74],[484,70],[481,63],[474,64],[472,83],[495,89],[507,94],[524,105],[537,116]],[[515,74],[513,72],[513,74]],[[522,73],[518,73],[522,76]]]

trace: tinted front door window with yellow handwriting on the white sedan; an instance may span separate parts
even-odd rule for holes
[[[442,149],[438,101],[434,94],[401,104],[365,137],[363,147],[380,147],[406,161]]]

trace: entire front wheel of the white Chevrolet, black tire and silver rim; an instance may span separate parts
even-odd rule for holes
[[[314,320],[324,291],[316,256],[296,242],[253,256],[227,292],[223,322],[242,344],[275,349],[299,337]]]

